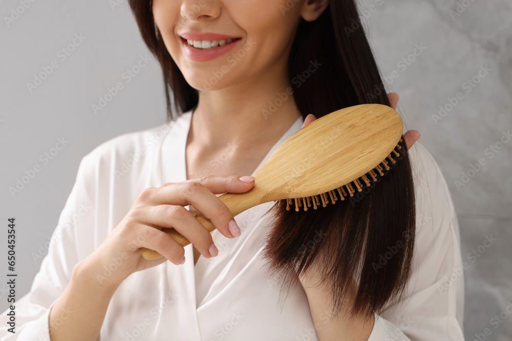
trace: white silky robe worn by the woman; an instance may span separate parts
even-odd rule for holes
[[[50,340],[49,309],[68,285],[75,264],[106,239],[143,189],[186,180],[191,115],[188,111],[175,122],[120,135],[83,157],[48,255],[30,292],[15,303],[15,334],[7,331],[7,311],[0,315],[1,340]],[[298,118],[257,169],[302,123]],[[418,226],[412,277],[403,300],[375,316],[369,340],[462,340],[457,217],[432,155],[416,143],[410,156]],[[215,161],[210,165],[215,173]],[[201,256],[194,265],[188,245],[184,265],[167,261],[129,276],[112,297],[99,339],[317,340],[302,286],[280,301],[281,283],[268,275],[259,257],[270,228],[261,216],[271,204],[235,217],[240,237],[227,239],[215,230],[217,257]],[[317,327],[325,327],[326,321],[327,314]]]

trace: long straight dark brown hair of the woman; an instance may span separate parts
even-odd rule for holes
[[[142,38],[161,64],[167,117],[173,119],[169,90],[178,115],[197,105],[198,90],[186,82],[157,34],[152,2],[129,3]],[[330,0],[318,19],[301,20],[288,60],[290,83],[312,61],[323,66],[293,89],[304,118],[357,104],[390,105],[354,0]],[[296,285],[298,274],[319,262],[324,265],[317,276],[331,289],[334,315],[353,280],[358,284],[353,314],[380,313],[401,297],[411,274],[416,210],[403,144],[400,154],[364,195],[307,212],[286,211],[286,205],[277,204],[267,212],[275,223],[263,257],[285,286]]]

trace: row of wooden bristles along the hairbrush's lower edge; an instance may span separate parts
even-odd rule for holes
[[[399,143],[402,142],[402,139],[398,141]],[[396,149],[400,150],[402,149],[402,146],[399,144],[396,145]],[[371,183],[376,183],[380,176],[384,176],[383,170],[389,171],[390,166],[389,164],[395,164],[398,159],[398,156],[400,154],[393,148],[393,156],[389,154],[387,156],[387,159],[389,159],[389,162],[386,161],[386,158],[380,162],[380,164],[377,165],[377,167],[370,170],[368,173],[363,174],[362,176],[354,179],[347,185],[344,185],[342,187],[335,188],[331,191],[319,194],[319,195],[313,195],[308,197],[302,197],[302,198],[293,198],[293,199],[281,199],[278,200],[278,206],[281,206],[281,201],[286,200],[286,210],[289,211],[291,206],[295,206],[295,211],[300,211],[300,208],[304,208],[304,211],[308,210],[308,207],[311,207],[311,203],[313,204],[313,209],[316,210],[319,206],[326,207],[328,203],[336,203],[338,199],[341,199],[342,201],[345,200],[346,196],[354,196],[354,193],[362,192],[363,187],[370,187]],[[378,174],[374,171],[376,170]],[[352,186],[352,184],[354,186]],[[346,191],[345,191],[346,190]],[[339,194],[339,198],[336,195],[336,192]],[[320,199],[318,199],[318,197]],[[329,201],[330,200],[330,201]],[[322,202],[321,202],[322,201]]]

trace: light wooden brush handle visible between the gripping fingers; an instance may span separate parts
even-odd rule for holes
[[[263,199],[263,192],[261,186],[254,185],[249,191],[244,193],[225,193],[219,196],[219,199],[224,202],[229,211],[234,216],[239,215],[240,213],[254,207],[260,203],[267,202],[261,201]],[[216,228],[214,224],[211,223],[210,219],[206,218],[201,212],[194,208],[190,208],[190,213],[196,218],[208,232],[214,231]],[[186,246],[190,244],[190,241],[183,237],[178,231],[175,229],[162,229],[163,232],[173,237],[181,246]],[[162,257],[158,252],[148,249],[146,247],[141,247],[140,252],[142,253],[142,257],[147,260],[157,259]]]

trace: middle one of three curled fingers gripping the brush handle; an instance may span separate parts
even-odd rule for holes
[[[183,206],[158,205],[148,206],[138,216],[140,222],[156,228],[174,228],[206,258],[215,257],[218,249],[213,244],[211,234]],[[213,244],[213,246],[212,246]]]

